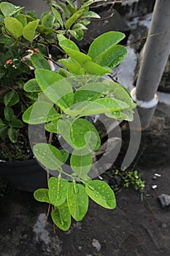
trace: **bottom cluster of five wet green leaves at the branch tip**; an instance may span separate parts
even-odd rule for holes
[[[88,197],[104,208],[116,207],[115,195],[104,181],[88,180],[83,184],[77,184],[75,181],[51,177],[48,187],[37,189],[34,197],[39,202],[53,205],[53,222],[64,231],[69,229],[71,217],[76,221],[81,221],[85,217],[88,211]]]

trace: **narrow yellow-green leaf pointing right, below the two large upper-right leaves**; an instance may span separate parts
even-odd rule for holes
[[[83,68],[85,69],[87,74],[91,75],[105,75],[108,73],[112,73],[112,69],[110,69],[109,67],[101,67],[100,65],[92,61],[86,61],[83,65]]]

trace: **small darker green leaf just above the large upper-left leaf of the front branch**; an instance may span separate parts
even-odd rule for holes
[[[50,70],[50,64],[48,63],[47,59],[45,59],[45,57],[39,53],[31,55],[31,62],[36,69]]]

